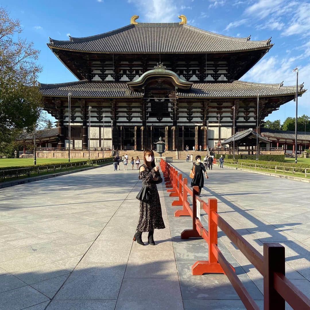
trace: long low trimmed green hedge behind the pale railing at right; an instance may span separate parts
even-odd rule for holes
[[[260,167],[264,168],[269,168],[269,169],[275,169],[277,166],[277,170],[283,170],[283,167],[285,171],[293,171],[294,167],[294,172],[305,172],[305,168],[310,168],[309,164],[304,164],[304,163],[293,163],[293,162],[273,162],[273,161],[261,161],[261,160],[246,160],[246,159],[237,159],[237,160],[232,160],[232,159],[226,159],[226,163],[230,162],[238,162],[238,163],[249,163],[249,164],[257,164],[257,169]],[[253,166],[253,165],[251,165]],[[307,170],[307,173],[310,173],[310,170]]]

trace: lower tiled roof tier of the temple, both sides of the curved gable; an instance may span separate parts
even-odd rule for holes
[[[256,97],[257,92],[261,97],[294,95],[295,86],[281,86],[278,84],[259,84],[251,82],[233,81],[223,83],[193,83],[189,91],[179,91],[177,97],[185,98],[240,98]],[[306,90],[299,85],[299,94]],[[131,91],[126,82],[89,82],[87,80],[61,83],[40,84],[43,96],[81,98],[135,98],[143,97],[143,92]]]

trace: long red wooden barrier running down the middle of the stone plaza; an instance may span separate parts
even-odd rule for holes
[[[160,166],[166,181],[167,192],[170,192],[169,196],[176,197],[172,206],[182,206],[182,209],[175,211],[175,216],[188,215],[193,219],[192,227],[184,230],[181,233],[181,238],[201,237],[208,243],[208,260],[196,261],[192,265],[193,275],[224,273],[246,309],[259,309],[255,300],[237,277],[234,268],[217,246],[219,227],[263,275],[264,310],[284,310],[285,302],[293,309],[310,309],[310,299],[285,276],[284,246],[279,243],[264,243],[263,255],[261,255],[217,213],[216,199],[208,198],[208,202],[203,201],[198,197],[198,186],[194,186],[193,189],[188,187],[187,178],[182,178],[182,175],[163,159]],[[188,195],[192,197],[192,207],[189,204]],[[201,223],[200,209],[203,209],[208,215],[207,228]]]

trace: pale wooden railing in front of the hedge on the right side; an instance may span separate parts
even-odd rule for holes
[[[237,168],[249,168],[254,170],[267,170],[272,172],[283,172],[283,174],[299,174],[307,178],[310,176],[310,168],[302,168],[302,167],[294,167],[294,166],[275,166],[275,165],[268,165],[268,164],[256,164],[250,162],[237,162],[237,161],[230,161],[225,160],[225,163],[228,165],[236,166]]]

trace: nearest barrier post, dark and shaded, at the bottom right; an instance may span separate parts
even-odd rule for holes
[[[264,243],[264,310],[284,310],[285,299],[274,288],[274,272],[285,275],[285,247]]]

